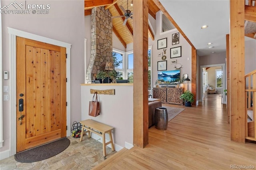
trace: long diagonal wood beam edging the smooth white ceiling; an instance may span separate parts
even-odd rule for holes
[[[159,2],[159,0],[153,0],[154,3],[156,4],[156,6],[158,6],[158,8],[164,13],[164,15],[170,20],[170,22],[174,25],[175,28],[177,28],[178,32],[180,32],[180,34],[185,38],[185,40],[187,40],[187,42],[191,45],[192,48],[196,49],[194,47],[194,45],[192,44],[192,42],[190,42],[190,40],[188,39],[188,37],[186,36],[186,34],[180,29],[180,27],[178,26],[178,24],[174,21],[174,19],[170,16],[170,14],[166,11],[166,9],[164,8],[164,6]]]

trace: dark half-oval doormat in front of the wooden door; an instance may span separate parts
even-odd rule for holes
[[[64,151],[69,146],[69,144],[70,140],[68,138],[61,138],[44,145],[19,152],[14,155],[14,158],[16,161],[22,163],[31,163],[45,160]]]

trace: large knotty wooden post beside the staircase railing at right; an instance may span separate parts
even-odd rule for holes
[[[230,137],[245,142],[244,1],[230,0]]]

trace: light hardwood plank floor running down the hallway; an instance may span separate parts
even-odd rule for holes
[[[256,168],[256,144],[230,141],[226,105],[218,94],[185,108],[167,130],[149,129],[146,148],[124,149],[93,169],[239,169]],[[246,167],[248,166],[248,167]]]

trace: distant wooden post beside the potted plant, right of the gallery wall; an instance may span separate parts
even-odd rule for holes
[[[192,47],[192,56],[191,56],[191,71],[192,71],[192,75],[191,75],[191,92],[194,95],[194,103],[193,105],[196,105],[196,48]]]

